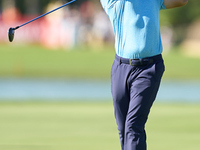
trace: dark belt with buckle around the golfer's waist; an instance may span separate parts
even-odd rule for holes
[[[146,58],[141,58],[141,59],[127,59],[127,58],[123,58],[123,57],[119,57],[118,55],[115,55],[115,59],[118,60],[120,63],[129,64],[131,66],[145,66],[162,59],[162,55],[159,54],[156,56],[146,57]]]

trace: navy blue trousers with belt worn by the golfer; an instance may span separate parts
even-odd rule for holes
[[[145,123],[164,70],[161,54],[138,60],[115,56],[111,92],[122,150],[146,150]]]

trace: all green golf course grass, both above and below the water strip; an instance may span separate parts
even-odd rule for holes
[[[88,50],[89,49],[89,50]],[[110,79],[113,47],[0,45],[0,78]],[[163,55],[164,79],[199,80],[200,59]],[[9,93],[10,94],[10,93]],[[112,100],[0,100],[0,150],[120,150]],[[200,103],[155,103],[148,150],[199,150]]]

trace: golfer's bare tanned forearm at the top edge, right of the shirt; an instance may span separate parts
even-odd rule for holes
[[[187,2],[188,0],[163,0],[167,9],[184,6]]]

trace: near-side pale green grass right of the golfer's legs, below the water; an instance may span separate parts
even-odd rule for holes
[[[147,123],[149,150],[199,150],[199,108],[199,104],[156,104]]]

